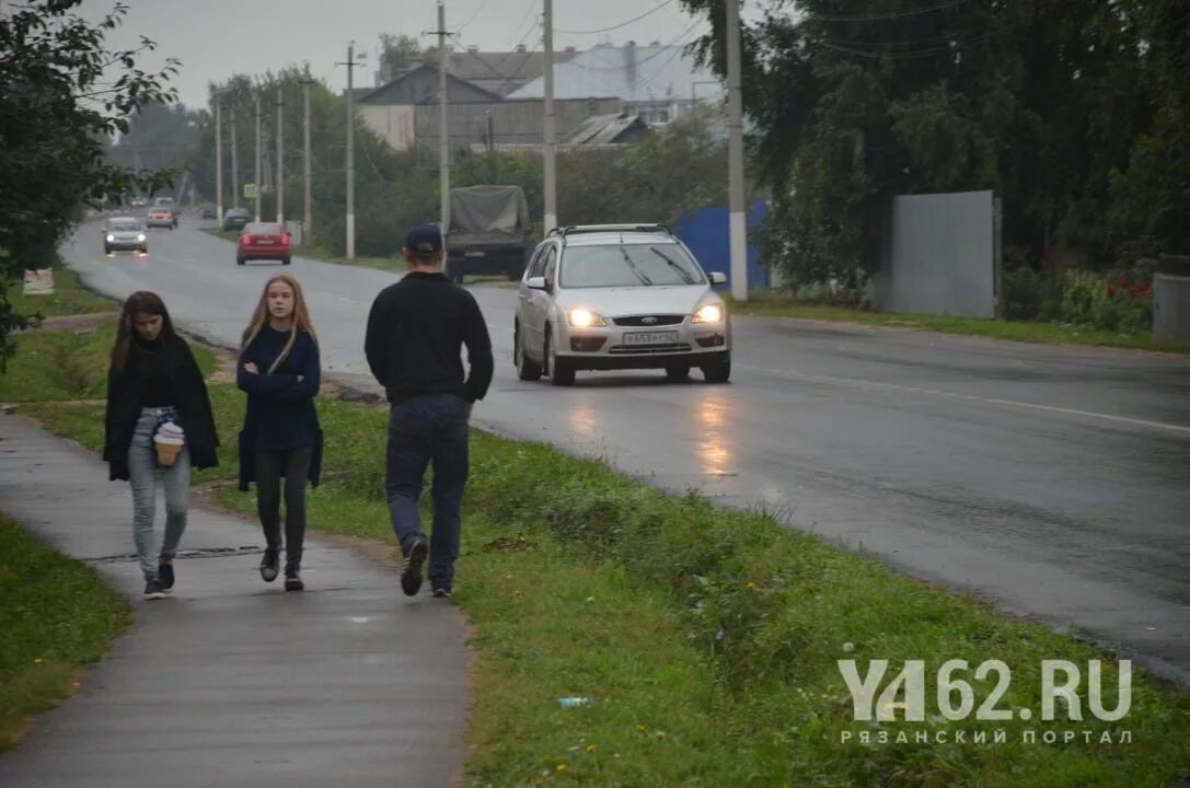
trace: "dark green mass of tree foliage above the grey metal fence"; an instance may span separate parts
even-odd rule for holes
[[[683,5],[722,74],[722,2]],[[890,198],[966,189],[1002,196],[1003,242],[1033,268],[1058,249],[1102,268],[1141,237],[1190,250],[1184,2],[772,5],[744,31],[771,264],[859,282]]]

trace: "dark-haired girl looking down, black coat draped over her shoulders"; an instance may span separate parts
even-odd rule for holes
[[[154,438],[167,423],[184,433],[181,451],[155,449]],[[189,509],[190,468],[219,464],[218,445],[207,387],[189,345],[174,331],[158,295],[133,293],[124,302],[107,373],[104,459],[111,479],[126,480],[132,488],[132,536],[145,599],[161,599],[174,587],[174,555]],[[173,464],[163,464],[174,452]],[[158,468],[165,483],[165,534],[161,552],[155,552]]]

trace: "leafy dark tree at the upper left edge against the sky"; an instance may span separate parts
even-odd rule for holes
[[[92,24],[73,13],[81,1],[30,0],[0,18],[0,365],[12,352],[8,334],[29,323],[12,312],[10,282],[54,261],[77,207],[170,179],[109,163],[105,139],[126,133],[139,107],[175,100],[164,85],[177,61],[138,70],[151,40],[127,50],[105,43],[127,8]]]

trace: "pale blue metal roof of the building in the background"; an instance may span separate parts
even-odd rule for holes
[[[558,99],[616,96],[622,101],[687,100],[706,98],[720,81],[695,62],[685,46],[596,46],[553,69],[553,95]],[[536,79],[509,94],[515,99],[545,95],[545,81]]]

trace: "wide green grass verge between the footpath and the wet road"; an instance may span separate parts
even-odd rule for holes
[[[243,396],[215,383],[212,399],[232,444]],[[95,448],[101,408],[19,412]],[[319,412],[326,482],[309,496],[312,525],[392,544],[386,413],[336,400]],[[215,500],[251,514],[252,498],[232,486],[233,451],[225,445],[221,467],[199,481],[226,482]],[[997,707],[1040,719],[1040,661],[1069,659],[1085,675],[1103,655],[764,514],[669,495],[599,462],[482,432],[471,458],[455,598],[477,651],[471,784],[1164,788],[1190,776],[1190,699],[1144,675],[1119,723],[951,723],[935,711],[933,678],[923,721],[856,723],[839,659],[858,659],[862,675],[869,659],[891,661],[892,673],[923,659],[927,676],[966,659],[972,670],[957,677],[977,705],[997,676],[976,680],[973,667],[1001,659],[1012,682]],[[591,702],[562,708],[570,695]]]

